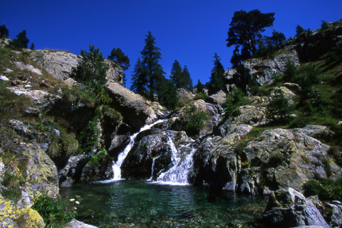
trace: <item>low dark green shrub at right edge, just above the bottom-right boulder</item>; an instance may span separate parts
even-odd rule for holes
[[[331,180],[328,178],[319,181],[310,180],[305,183],[304,194],[308,196],[317,195],[322,200],[342,200],[342,178]]]

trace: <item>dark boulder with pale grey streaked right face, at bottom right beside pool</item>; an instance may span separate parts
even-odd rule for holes
[[[270,227],[303,227],[315,225],[330,228],[319,210],[305,199],[302,193],[286,188],[277,190],[269,197],[267,207],[261,216]]]

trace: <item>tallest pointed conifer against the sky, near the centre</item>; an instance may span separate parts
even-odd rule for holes
[[[148,98],[154,101],[154,94],[157,94],[157,81],[165,73],[163,67],[159,64],[161,53],[158,47],[155,47],[155,37],[148,31],[145,39],[145,47],[140,53],[142,54],[142,75],[148,79]]]

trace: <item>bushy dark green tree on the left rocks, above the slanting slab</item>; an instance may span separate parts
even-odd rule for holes
[[[81,49],[81,57],[76,67],[71,70],[71,77],[80,81],[94,91],[95,89],[101,88],[107,82],[106,72],[109,66],[105,64],[102,51],[94,48],[94,45],[89,46],[89,53]]]

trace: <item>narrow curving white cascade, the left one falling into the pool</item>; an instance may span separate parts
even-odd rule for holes
[[[127,145],[127,147],[124,149],[124,151],[122,151],[119,155],[118,155],[118,161],[114,162],[112,168],[113,168],[113,173],[114,173],[114,177],[113,180],[120,180],[121,179],[121,169],[120,166],[122,164],[122,162],[124,162],[124,158],[127,156],[127,154],[129,153],[129,151],[131,151],[131,148],[134,144],[134,140],[137,137],[137,134],[139,134],[142,131],[145,131],[147,129],[150,129],[151,127],[153,127],[153,125],[156,125],[157,123],[163,123],[165,120],[159,120],[151,125],[145,125],[144,127],[142,127],[142,129],[140,129],[139,132],[133,134],[130,137],[129,140],[129,144]]]

